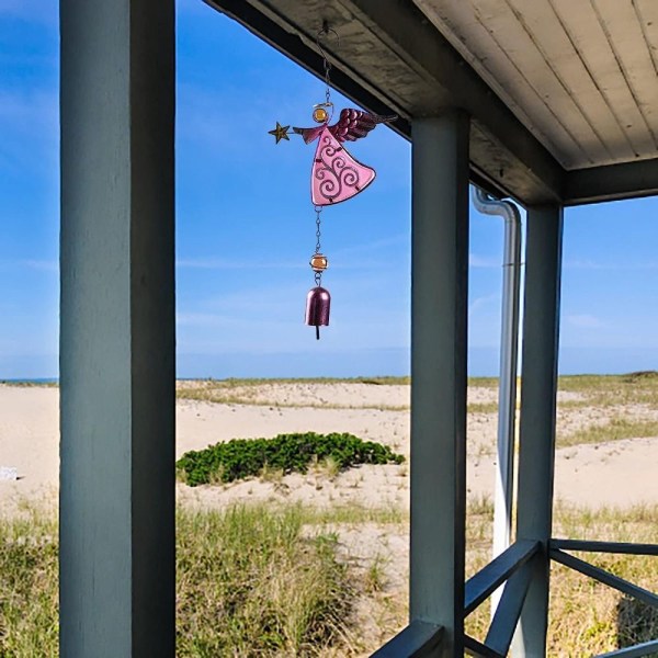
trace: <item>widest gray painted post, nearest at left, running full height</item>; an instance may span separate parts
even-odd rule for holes
[[[60,1],[60,655],[174,655],[173,0]]]

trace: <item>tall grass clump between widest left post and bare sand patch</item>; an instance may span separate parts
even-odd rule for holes
[[[238,506],[178,517],[178,656],[315,656],[337,644],[352,591],[336,536],[303,514]]]

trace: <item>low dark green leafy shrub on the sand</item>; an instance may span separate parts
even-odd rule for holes
[[[353,434],[279,434],[274,439],[231,439],[205,450],[186,452],[178,462],[181,478],[191,487],[230,483],[259,475],[266,466],[306,473],[314,461],[331,458],[340,469],[358,464],[401,464],[402,455],[386,445]]]

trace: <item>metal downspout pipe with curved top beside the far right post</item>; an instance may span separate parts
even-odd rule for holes
[[[502,274],[502,322],[500,336],[500,377],[498,383],[498,468],[494,503],[494,557],[511,541],[514,486],[514,421],[517,416],[517,365],[519,359],[519,291],[521,282],[521,216],[511,201],[499,201],[473,188],[473,204],[485,215],[504,218]],[[491,614],[500,599],[491,598]]]

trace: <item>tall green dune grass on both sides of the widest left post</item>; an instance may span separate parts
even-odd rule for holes
[[[316,656],[344,645],[353,585],[299,507],[178,514],[177,656]],[[304,531],[304,532],[303,532]],[[57,527],[0,525],[0,656],[57,656]]]

